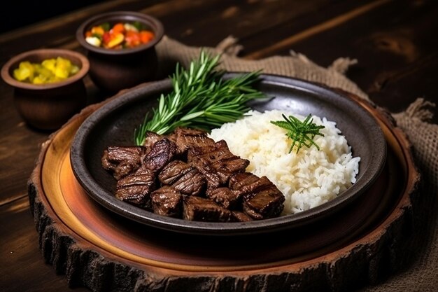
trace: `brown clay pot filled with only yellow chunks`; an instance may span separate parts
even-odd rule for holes
[[[13,71],[20,62],[41,63],[57,57],[70,60],[80,68],[79,71],[64,81],[45,84],[26,83],[13,77]],[[87,104],[83,78],[89,69],[90,63],[80,53],[64,49],[39,49],[11,58],[3,65],[1,77],[13,86],[15,108],[28,125],[40,130],[55,130]]]

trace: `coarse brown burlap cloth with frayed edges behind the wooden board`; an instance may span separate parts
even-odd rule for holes
[[[200,50],[206,50],[212,54],[222,53],[220,68],[227,71],[261,69],[265,74],[278,74],[324,83],[369,100],[367,94],[345,75],[348,67],[355,64],[356,60],[339,58],[330,67],[323,68],[311,62],[304,55],[293,51],[288,56],[245,60],[237,57],[241,46],[232,36],[226,38],[215,48],[185,46],[164,36],[164,39],[157,45],[160,74],[172,72],[176,62],[186,66],[199,56]],[[438,125],[428,123],[432,118],[431,110],[434,106],[435,104],[418,98],[405,111],[393,113],[397,126],[404,130],[413,145],[416,165],[422,174],[421,195],[425,199],[425,205],[428,206],[421,211],[423,218],[418,221],[421,226],[416,226],[420,238],[418,252],[409,266],[401,267],[400,271],[382,283],[367,286],[362,291],[438,291],[438,211],[435,208],[438,177]]]

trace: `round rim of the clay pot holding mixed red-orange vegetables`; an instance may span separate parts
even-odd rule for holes
[[[136,46],[135,48],[124,48],[122,50],[101,48],[92,46],[90,43],[87,43],[87,41],[85,41],[85,32],[87,31],[87,29],[90,29],[93,25],[105,22],[106,20],[142,22],[143,24],[148,25],[151,29],[153,29],[153,32],[155,33],[155,38],[152,41],[149,41],[148,43],[140,46]],[[154,18],[151,15],[134,11],[114,11],[101,13],[83,22],[82,25],[80,25],[76,30],[76,39],[81,46],[83,46],[87,50],[90,50],[94,53],[100,53],[102,55],[129,55],[133,53],[138,53],[140,51],[147,50],[148,48],[153,48],[159,41],[161,41],[163,36],[164,27],[160,20],[157,20],[157,18]]]

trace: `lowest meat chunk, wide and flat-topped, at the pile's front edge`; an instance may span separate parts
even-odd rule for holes
[[[191,221],[228,222],[231,211],[204,197],[183,197],[183,218]]]

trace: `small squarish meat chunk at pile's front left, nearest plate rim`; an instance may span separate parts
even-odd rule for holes
[[[152,209],[155,214],[181,218],[183,195],[170,186],[163,186],[150,194]]]

